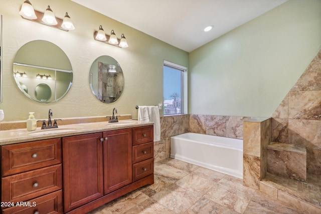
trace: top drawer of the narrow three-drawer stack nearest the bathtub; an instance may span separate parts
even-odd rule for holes
[[[154,128],[151,126],[132,128],[132,144],[138,145],[154,140]]]

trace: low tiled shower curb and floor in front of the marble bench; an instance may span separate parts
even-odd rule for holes
[[[267,173],[260,191],[278,200],[300,206],[303,213],[321,213],[321,175],[307,174],[307,181]]]

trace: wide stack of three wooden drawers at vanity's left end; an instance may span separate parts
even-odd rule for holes
[[[63,213],[61,151],[61,138],[1,146],[2,213]]]

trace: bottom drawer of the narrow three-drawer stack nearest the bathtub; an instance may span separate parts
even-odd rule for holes
[[[154,173],[154,158],[143,160],[132,165],[133,181]]]

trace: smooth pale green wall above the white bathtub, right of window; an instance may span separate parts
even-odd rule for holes
[[[321,1],[289,0],[190,53],[190,113],[269,117],[320,48]]]

